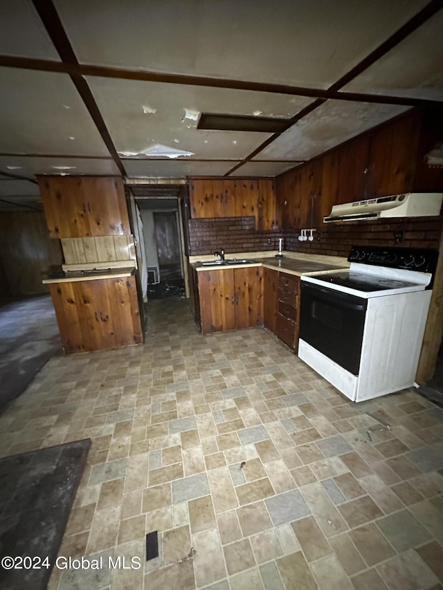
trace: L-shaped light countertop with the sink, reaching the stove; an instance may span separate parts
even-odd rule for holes
[[[257,254],[259,256],[257,257]],[[316,256],[316,255],[302,255],[297,256],[296,252],[287,252],[282,258],[277,258],[275,255],[260,256],[261,252],[249,252],[248,255],[227,255],[226,258],[233,259],[247,259],[253,261],[253,264],[229,264],[228,266],[199,266],[197,260],[193,260],[191,265],[195,270],[224,270],[226,268],[246,268],[247,266],[264,266],[265,268],[272,268],[273,270],[280,270],[283,273],[289,275],[316,275],[320,273],[332,272],[334,270],[341,270],[348,268],[349,263],[346,259],[337,261],[336,257],[330,257],[331,261],[328,260],[327,256]],[[192,257],[196,258],[196,257]],[[210,257],[209,257],[210,258]],[[208,257],[201,257],[202,261],[210,261]]]

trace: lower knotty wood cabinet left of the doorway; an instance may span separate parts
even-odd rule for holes
[[[141,344],[135,277],[51,284],[66,353]]]

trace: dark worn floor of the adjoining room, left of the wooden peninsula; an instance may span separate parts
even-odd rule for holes
[[[28,387],[48,360],[62,351],[51,296],[0,307],[0,411]]]

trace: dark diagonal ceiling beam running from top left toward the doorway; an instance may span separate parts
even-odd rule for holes
[[[78,59],[71,46],[71,42],[69,42],[62,21],[60,21],[60,17],[57,14],[57,10],[55,10],[52,0],[33,0],[33,4],[40,19],[42,19],[46,31],[48,32],[49,37],[51,37],[51,41],[53,42],[57,53],[60,55],[62,62],[71,66],[79,65]],[[109,154],[111,154],[112,159],[120,170],[120,174],[122,174],[122,176],[127,176],[125,167],[117,154],[114,142],[106,127],[105,120],[102,118],[102,113],[100,113],[100,109],[98,109],[98,105],[95,98],[93,98],[93,94],[91,93],[87,81],[80,74],[71,73],[69,75],[71,76],[71,80],[80,94],[80,98],[82,98],[85,107],[88,109],[102,140],[105,142]]]

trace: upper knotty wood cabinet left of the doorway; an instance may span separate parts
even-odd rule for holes
[[[123,179],[117,176],[39,176],[51,238],[130,234]]]

